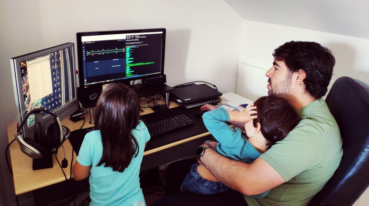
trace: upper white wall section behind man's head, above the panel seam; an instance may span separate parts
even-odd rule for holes
[[[334,80],[349,76],[369,83],[369,39],[244,20],[240,54],[273,62],[273,50],[292,40],[315,41],[331,49]]]

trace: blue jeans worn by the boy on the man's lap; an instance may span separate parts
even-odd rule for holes
[[[193,164],[191,171],[187,174],[186,178],[184,178],[180,188],[181,193],[190,191],[197,194],[211,195],[218,192],[225,192],[230,189],[222,182],[214,182],[201,177],[199,172],[197,172],[197,165],[199,164]]]

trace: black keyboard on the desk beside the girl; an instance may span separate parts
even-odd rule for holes
[[[151,137],[170,132],[175,129],[183,128],[185,126],[193,125],[193,121],[186,115],[179,115],[173,118],[165,119],[160,122],[146,125]]]

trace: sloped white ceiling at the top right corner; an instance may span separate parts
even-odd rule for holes
[[[369,39],[369,0],[225,0],[225,2],[244,20]]]

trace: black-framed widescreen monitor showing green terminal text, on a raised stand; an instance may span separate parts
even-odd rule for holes
[[[77,33],[81,88],[164,74],[165,28]]]

